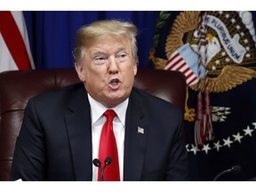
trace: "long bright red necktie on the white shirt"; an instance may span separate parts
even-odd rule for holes
[[[119,163],[118,163],[118,154],[116,148],[116,138],[113,132],[113,119],[116,116],[116,112],[112,109],[105,111],[103,116],[107,117],[106,123],[103,125],[101,134],[100,134],[100,151],[99,159],[101,166],[105,162],[105,159],[109,156],[112,158],[112,163],[108,164],[104,170],[105,180],[120,180],[119,174]],[[98,180],[101,180],[101,172],[99,169]]]

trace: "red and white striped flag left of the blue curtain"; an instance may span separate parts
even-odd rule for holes
[[[0,13],[0,20],[5,19],[0,28],[0,72],[5,70],[18,70],[19,68],[35,68],[30,52],[28,32],[23,12]],[[20,49],[22,46],[23,49]],[[23,60],[25,57],[28,58],[26,62],[16,63],[17,60],[19,61],[21,58],[21,60]]]

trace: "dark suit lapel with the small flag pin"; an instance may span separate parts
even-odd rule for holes
[[[126,112],[124,180],[140,180],[147,144],[148,124],[138,94],[132,91]]]

